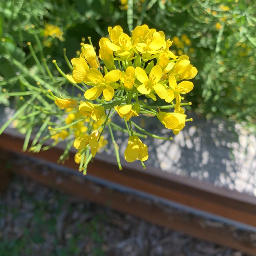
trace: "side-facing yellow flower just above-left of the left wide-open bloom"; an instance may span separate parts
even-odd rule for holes
[[[86,71],[89,69],[83,57],[73,58],[71,60],[73,65],[73,75],[67,75],[68,80],[71,83],[77,84],[86,80]]]

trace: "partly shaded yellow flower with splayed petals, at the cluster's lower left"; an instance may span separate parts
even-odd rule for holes
[[[91,148],[91,155],[94,157],[99,147],[99,131],[93,131],[89,136],[78,137],[74,141],[74,147],[78,150],[83,150],[88,144]]]

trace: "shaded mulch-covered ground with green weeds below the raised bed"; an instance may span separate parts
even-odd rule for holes
[[[0,197],[0,256],[241,256],[14,174]]]

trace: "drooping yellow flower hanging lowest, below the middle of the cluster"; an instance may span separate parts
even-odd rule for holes
[[[133,162],[136,159],[146,161],[148,159],[147,146],[142,143],[138,136],[129,137],[128,145],[125,150],[125,160]]]

